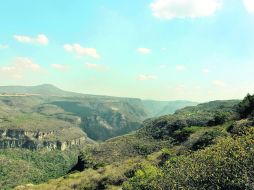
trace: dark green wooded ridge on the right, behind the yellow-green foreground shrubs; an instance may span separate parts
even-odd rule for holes
[[[176,111],[173,115],[145,121],[145,127],[140,131],[155,139],[169,139],[172,138],[175,131],[182,130],[185,127],[207,127],[223,124],[236,117],[234,107],[237,103],[239,103],[237,100],[213,101],[193,107],[186,107]],[[187,131],[183,132],[185,132],[186,139],[189,134]]]

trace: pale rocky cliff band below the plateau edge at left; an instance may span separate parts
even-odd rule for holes
[[[49,140],[48,136],[54,135],[50,132],[33,132],[22,129],[0,129],[0,148],[28,148],[36,150],[46,148],[50,150],[65,150],[74,145],[81,145],[86,137],[79,135],[68,140]]]

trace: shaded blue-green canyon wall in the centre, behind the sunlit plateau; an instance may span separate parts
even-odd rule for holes
[[[94,140],[106,140],[141,127],[146,113],[139,99],[79,99],[55,101],[64,111],[81,118],[79,125]]]

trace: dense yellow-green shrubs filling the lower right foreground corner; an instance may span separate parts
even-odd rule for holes
[[[162,172],[155,167],[139,170],[124,184],[125,190],[253,189],[254,137],[226,137],[190,154],[171,157]]]

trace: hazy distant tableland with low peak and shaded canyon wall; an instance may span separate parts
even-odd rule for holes
[[[64,121],[80,120],[78,126],[93,140],[107,140],[142,127],[150,117],[174,113],[196,105],[190,101],[153,101],[86,95],[61,90],[50,84],[39,86],[2,86],[0,103],[18,113],[38,113]],[[38,95],[24,97],[26,94]],[[9,96],[10,95],[10,96]],[[24,95],[19,98],[13,95]],[[12,113],[9,113],[12,116]],[[13,115],[14,116],[14,115]]]

